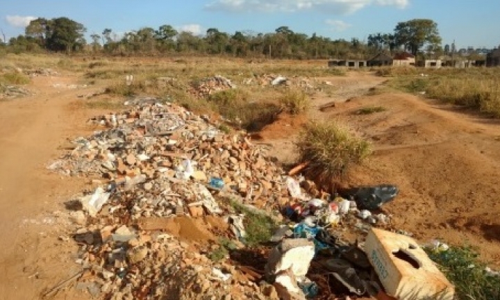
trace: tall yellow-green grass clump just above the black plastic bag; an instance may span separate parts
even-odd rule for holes
[[[335,122],[306,124],[297,142],[299,160],[307,162],[306,174],[328,181],[346,174],[372,153],[369,142]]]

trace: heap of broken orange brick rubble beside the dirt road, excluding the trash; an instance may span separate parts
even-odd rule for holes
[[[49,166],[100,183],[79,199],[82,210],[74,213],[81,223],[74,235],[81,245],[77,262],[87,270],[78,286],[91,294],[143,299],[140,295],[172,292],[172,287],[164,286],[169,276],[181,280],[192,274],[197,277],[183,280],[194,280],[196,287],[183,284],[187,290],[179,293],[186,298],[176,299],[196,299],[184,292],[206,294],[208,288],[213,295],[231,294],[225,282],[239,289],[242,297],[256,294],[253,282],[228,280],[238,278],[234,267],[213,265],[206,256],[187,251],[165,230],[175,218],[223,217],[226,212],[213,194],[276,208],[278,201],[291,199],[281,168],[247,135],[220,133],[214,124],[184,108],[150,98],[128,105],[131,109],[124,113],[91,119],[105,129],[76,139],[73,149]],[[237,216],[229,222],[234,223],[235,237],[244,235]],[[183,261],[189,263],[176,265]],[[205,281],[194,279],[202,274]]]

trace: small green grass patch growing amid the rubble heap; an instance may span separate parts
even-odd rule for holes
[[[243,224],[247,232],[247,238],[245,238],[244,244],[248,247],[257,247],[260,244],[269,242],[269,239],[278,227],[272,217],[255,210],[250,210],[236,201],[231,201],[231,206],[236,213],[245,215]]]

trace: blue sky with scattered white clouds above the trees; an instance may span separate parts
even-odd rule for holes
[[[69,17],[91,33],[111,28],[124,33],[170,24],[204,33],[279,26],[329,38],[359,38],[390,33],[397,22],[426,18],[437,22],[443,45],[498,47],[499,0],[0,0],[0,28],[7,39],[24,33],[32,17]]]

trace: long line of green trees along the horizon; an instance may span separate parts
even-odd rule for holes
[[[193,55],[225,55],[242,58],[364,59],[376,53],[409,51],[417,54],[440,53],[441,38],[437,24],[431,19],[399,22],[393,33],[373,33],[367,41],[326,38],[316,33],[307,35],[288,26],[272,33],[235,31],[226,33],[209,28],[203,35],[177,31],[165,24],[159,28],[143,27],[119,36],[110,28],[92,33],[85,40],[86,28],[67,17],[38,18],[26,26],[24,35],[11,38],[6,47],[15,52],[54,51],[65,53],[92,52],[110,55],[158,55],[182,53]],[[422,50],[426,50],[423,52]]]

